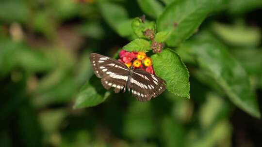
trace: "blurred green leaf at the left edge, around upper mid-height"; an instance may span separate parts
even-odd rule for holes
[[[24,44],[9,39],[1,39],[0,46],[0,76],[15,68],[29,72],[42,72],[52,66],[43,52],[33,50]]]

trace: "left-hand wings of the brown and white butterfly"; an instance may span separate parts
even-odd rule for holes
[[[104,88],[115,88],[115,93],[125,88],[128,80],[128,67],[110,57],[92,53],[90,62],[93,65],[94,73],[101,79]]]

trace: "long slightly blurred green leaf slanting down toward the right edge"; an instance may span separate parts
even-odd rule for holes
[[[226,47],[213,39],[188,43],[199,66],[224,89],[229,99],[248,114],[260,118],[258,104],[243,67]]]

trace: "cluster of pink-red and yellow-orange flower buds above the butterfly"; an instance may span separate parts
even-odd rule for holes
[[[125,65],[130,68],[131,66],[134,69],[142,69],[147,71],[148,73],[154,74],[154,69],[152,67],[151,58],[147,57],[145,52],[128,52],[125,50],[121,50],[119,52],[120,62],[125,63]]]

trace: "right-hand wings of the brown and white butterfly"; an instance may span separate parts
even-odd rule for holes
[[[163,79],[146,71],[136,69],[131,76],[131,92],[137,100],[145,102],[165,90]]]

